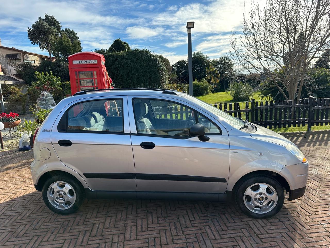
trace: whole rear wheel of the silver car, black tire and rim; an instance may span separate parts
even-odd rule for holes
[[[71,214],[82,205],[85,193],[76,178],[59,174],[45,182],[42,197],[51,211],[57,214]]]

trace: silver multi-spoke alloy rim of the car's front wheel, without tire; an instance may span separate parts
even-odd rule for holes
[[[257,214],[265,214],[273,210],[278,201],[275,189],[265,183],[249,186],[243,197],[248,210]]]

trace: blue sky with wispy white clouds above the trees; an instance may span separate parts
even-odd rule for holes
[[[47,13],[78,33],[83,51],[108,48],[121,38],[172,64],[187,58],[186,21],[195,21],[193,51],[215,59],[230,50],[229,35],[241,32],[243,12],[244,0],[11,0],[1,3],[0,38],[3,46],[48,54],[27,37],[27,27]]]

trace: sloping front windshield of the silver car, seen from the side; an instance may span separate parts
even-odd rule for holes
[[[190,101],[192,101],[200,106],[203,106],[205,109],[209,110],[211,113],[221,117],[221,119],[223,119],[225,122],[227,122],[229,125],[231,125],[234,128],[239,129],[245,125],[244,121],[241,121],[241,120],[227,114],[226,112],[223,112],[222,110],[212,106],[209,103],[203,102],[202,100],[199,100],[198,98],[195,98],[190,95],[186,95],[185,97],[188,98]]]

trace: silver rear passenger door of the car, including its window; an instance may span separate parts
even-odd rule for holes
[[[51,142],[92,190],[136,191],[126,96],[70,104],[55,121]]]

